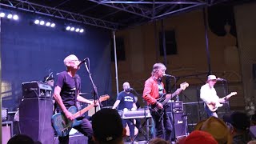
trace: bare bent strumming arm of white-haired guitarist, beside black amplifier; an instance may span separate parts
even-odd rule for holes
[[[56,86],[54,88],[54,99],[58,103],[58,106],[61,107],[63,113],[66,115],[66,118],[69,118],[70,120],[74,120],[73,114],[71,114],[67,109],[66,106],[64,106],[62,102],[62,97],[60,95],[62,88],[59,86]]]

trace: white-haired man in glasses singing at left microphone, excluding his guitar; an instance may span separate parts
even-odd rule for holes
[[[81,78],[76,72],[79,70],[78,64],[80,61],[74,54],[70,54],[64,59],[64,65],[66,70],[58,74],[58,80],[54,88],[54,98],[58,103],[57,112],[63,112],[66,115],[66,118],[74,120],[74,115],[68,111],[70,106],[75,106],[75,103],[86,102],[93,104],[94,102],[82,98],[79,95],[81,92]],[[88,137],[88,143],[92,141],[93,130],[92,126],[88,119],[79,118],[82,120],[79,126],[74,126],[74,129],[77,129],[82,134]],[[69,143],[69,135],[66,137],[59,137],[59,143]]]

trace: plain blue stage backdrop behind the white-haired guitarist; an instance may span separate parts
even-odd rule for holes
[[[2,18],[2,106],[17,110],[22,100],[22,82],[42,81],[53,72],[66,70],[63,59],[75,54],[79,59],[90,58],[90,73],[98,95],[110,94],[110,30],[81,26],[84,34],[64,31],[64,21],[54,20],[56,27],[36,26],[36,14],[19,14],[19,20]],[[50,18],[44,18],[45,20]],[[70,22],[66,22],[70,23]],[[91,93],[93,86],[84,65],[78,71],[82,92]],[[92,98],[87,94],[86,98]]]

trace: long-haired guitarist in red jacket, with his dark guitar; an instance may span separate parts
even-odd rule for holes
[[[164,89],[164,84],[162,82],[162,77],[165,75],[165,72],[165,65],[162,63],[154,64],[151,77],[145,82],[142,97],[150,106],[152,106],[152,109],[150,109],[150,114],[154,119],[156,137],[165,138],[166,141],[170,141],[172,122],[170,122],[169,115],[164,109],[166,104],[165,101],[168,101],[170,98],[173,98],[175,95],[179,94],[182,89],[176,90],[174,94],[165,94],[166,90]],[[183,87],[186,87],[185,85],[188,86],[186,83],[183,85]],[[162,102],[158,102],[158,98],[162,99],[163,97],[166,99]],[[159,110],[161,111],[161,114],[159,114]],[[164,131],[165,134],[163,134]]]

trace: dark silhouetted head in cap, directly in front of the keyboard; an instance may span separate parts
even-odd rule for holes
[[[122,118],[114,109],[98,110],[92,116],[94,142],[96,144],[123,144],[126,129],[122,126]]]

